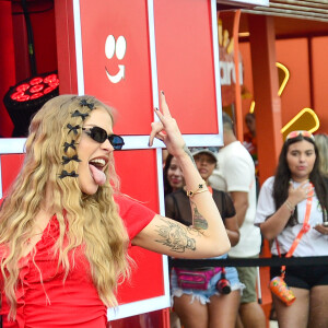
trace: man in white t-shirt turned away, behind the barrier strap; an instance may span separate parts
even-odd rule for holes
[[[230,192],[239,225],[239,243],[232,247],[230,257],[258,257],[261,245],[260,230],[254,225],[256,214],[256,180],[253,159],[234,134],[230,116],[223,113],[224,147],[218,154],[218,169],[210,177],[213,188]],[[237,268],[241,282],[246,285],[239,307],[244,328],[265,328],[266,317],[257,302],[256,268]]]

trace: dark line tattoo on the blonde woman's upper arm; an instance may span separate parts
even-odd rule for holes
[[[161,220],[163,224],[157,225],[156,232],[162,238],[156,239],[157,243],[169,247],[171,250],[176,253],[184,253],[187,249],[196,250],[196,239],[192,235],[199,235],[199,231],[189,226],[181,226],[164,218],[161,218]]]

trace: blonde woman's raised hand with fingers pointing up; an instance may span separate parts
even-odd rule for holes
[[[186,143],[176,120],[171,116],[163,91],[160,93],[160,103],[161,108],[154,109],[160,121],[153,121],[151,125],[152,131],[150,133],[149,145],[151,147],[154,138],[157,138],[165,143],[167,151],[172,155],[179,156],[185,153],[184,147]]]

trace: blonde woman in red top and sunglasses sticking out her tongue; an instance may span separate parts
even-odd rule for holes
[[[230,248],[220,213],[161,93],[162,140],[184,171],[207,229],[187,229],[118,192],[113,110],[91,96],[61,95],[35,115],[21,173],[0,211],[3,327],[106,327],[129,243],[184,258]],[[174,236],[174,238],[173,238]]]

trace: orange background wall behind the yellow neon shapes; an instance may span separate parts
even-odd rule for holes
[[[309,47],[311,51],[309,54]],[[253,73],[249,43],[241,43],[245,89],[253,94]],[[305,107],[317,114],[320,128],[328,132],[326,94],[328,90],[328,37],[280,39],[276,42],[277,60],[290,71],[290,79],[281,95],[282,127]],[[311,60],[312,58],[312,60]],[[312,66],[312,67],[311,67]],[[312,73],[311,73],[312,69]],[[258,79],[258,77],[256,77]],[[263,77],[265,83],[265,77]],[[313,97],[312,92],[313,90]],[[249,110],[250,99],[243,99],[243,114]],[[256,113],[256,107],[255,107]],[[244,127],[246,128],[246,127]]]

